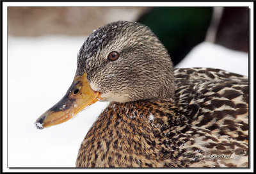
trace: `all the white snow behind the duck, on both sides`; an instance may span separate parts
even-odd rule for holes
[[[108,102],[47,129],[34,122],[72,83],[85,36],[8,36],[8,167],[75,167],[86,132]],[[207,59],[205,59],[207,58]],[[177,65],[248,75],[248,54],[203,42]]]

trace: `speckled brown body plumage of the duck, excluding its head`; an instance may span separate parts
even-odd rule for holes
[[[248,167],[247,77],[213,68],[174,72],[175,97],[111,102],[84,138],[76,166]]]

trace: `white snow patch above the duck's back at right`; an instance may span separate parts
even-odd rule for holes
[[[171,53],[172,57],[172,53]],[[221,45],[202,42],[196,45],[175,68],[218,68],[248,76],[248,53],[233,51]]]

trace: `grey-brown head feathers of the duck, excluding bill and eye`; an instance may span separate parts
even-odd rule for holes
[[[116,61],[109,61],[111,51],[118,52]],[[117,21],[95,30],[77,55],[76,74],[84,72],[104,100],[131,102],[174,95],[168,51],[147,26],[139,23]]]

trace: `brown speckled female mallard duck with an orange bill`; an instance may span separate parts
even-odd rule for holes
[[[42,129],[97,100],[109,106],[81,144],[77,167],[248,167],[248,79],[212,68],[173,70],[142,24],[118,21],[87,38],[66,95]]]

